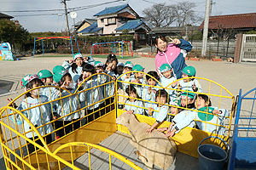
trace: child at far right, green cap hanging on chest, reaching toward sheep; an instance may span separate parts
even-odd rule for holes
[[[183,120],[176,122],[172,127],[172,130],[170,128],[168,129],[169,131],[166,132],[166,136],[169,137],[173,136],[175,133],[178,133],[181,129],[183,129],[183,127],[187,127],[191,122],[194,122],[196,117],[202,121],[196,122],[197,126],[201,130],[209,133],[224,135],[224,127],[212,125],[208,122],[224,125],[224,117],[229,116],[229,112],[224,109],[218,109],[217,107],[210,107],[211,105],[211,100],[207,95],[198,94],[195,98],[195,108],[197,111],[190,111],[186,116],[184,116]],[[207,114],[201,111],[205,111]]]

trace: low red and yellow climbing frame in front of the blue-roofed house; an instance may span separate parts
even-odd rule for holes
[[[128,45],[130,48],[128,48]],[[106,48],[108,48],[108,50],[106,50]],[[95,54],[116,54],[119,55],[119,57],[122,56],[122,59],[124,58],[124,54],[131,55],[133,57],[130,41],[93,43],[90,49],[90,56]]]

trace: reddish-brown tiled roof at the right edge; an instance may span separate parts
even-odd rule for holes
[[[203,29],[204,22],[200,29]],[[211,16],[209,29],[256,28],[256,13]]]

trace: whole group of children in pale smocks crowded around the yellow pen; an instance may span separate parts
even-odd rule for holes
[[[166,120],[172,122],[170,127],[158,128],[161,132],[166,130],[166,136],[173,136],[183,127],[193,127],[195,124],[207,132],[223,134],[223,128],[206,125],[206,122],[221,124],[221,117],[227,116],[228,111],[211,107],[207,95],[184,92],[202,92],[199,82],[193,78],[196,72],[193,66],[183,69],[184,79],[179,81],[169,64],[161,65],[160,72],[148,71],[146,77],[143,71],[142,65],[133,65],[131,61],[126,61],[125,64],[118,62],[114,54],[108,55],[105,64],[91,57],[83,57],[82,54],[74,54],[73,59],[56,65],[52,72],[42,70],[38,71],[38,74],[23,77],[21,85],[27,93],[18,110],[38,127],[38,132],[49,144],[53,141],[53,131],[55,138],[59,139],[111,111],[115,94],[114,81],[117,81],[118,89],[123,91],[123,94],[128,94],[126,101],[119,105],[119,108],[127,114],[137,113],[156,119],[153,126],[147,129],[148,133]],[[95,73],[108,75],[94,75]],[[60,88],[38,88],[48,85]],[[33,107],[40,104],[40,107]],[[186,108],[195,108],[201,112],[187,111]],[[168,115],[170,111],[172,116]],[[80,119],[81,117],[83,118]],[[38,138],[35,133],[32,134],[29,123],[20,116],[15,118],[18,124],[23,123],[25,131],[28,132],[27,138]],[[195,118],[200,118],[203,122],[195,122]],[[55,122],[51,123],[52,120]],[[39,140],[38,144],[41,144]],[[30,152],[34,150],[32,145],[29,144],[28,147]]]

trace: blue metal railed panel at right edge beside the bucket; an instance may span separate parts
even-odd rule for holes
[[[235,168],[256,168],[255,100],[256,88],[251,89],[245,94],[241,94],[240,89],[233,143],[230,151],[229,170]]]

